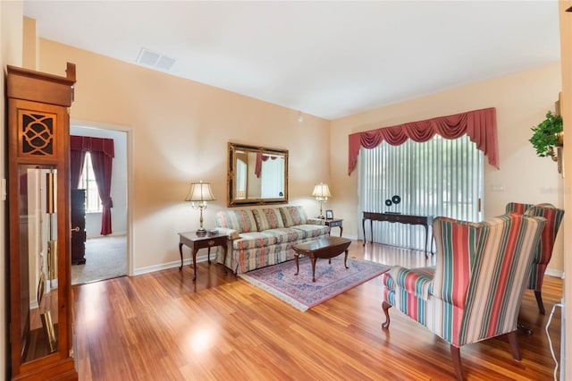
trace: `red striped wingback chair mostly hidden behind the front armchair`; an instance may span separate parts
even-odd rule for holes
[[[545,314],[543,303],[543,280],[546,267],[551,261],[552,250],[554,249],[554,241],[564,217],[564,210],[554,207],[551,204],[521,204],[518,202],[509,202],[506,207],[507,213],[517,213],[527,216],[541,216],[546,218],[543,233],[540,242],[534,251],[533,270],[528,278],[528,288],[534,290],[538,310],[541,314]]]

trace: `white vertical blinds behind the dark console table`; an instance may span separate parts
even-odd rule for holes
[[[408,140],[400,146],[383,141],[376,148],[361,148],[358,159],[360,222],[364,211],[482,219],[484,155],[467,136],[447,140],[435,135],[424,143]],[[386,206],[393,196],[399,196],[400,203]],[[374,242],[425,250],[425,229],[420,225],[373,226]],[[363,239],[361,226],[358,232]],[[366,234],[369,238],[369,223]]]

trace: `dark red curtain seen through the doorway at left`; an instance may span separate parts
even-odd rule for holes
[[[91,155],[91,165],[93,165],[93,172],[96,175],[97,190],[103,207],[101,234],[111,234],[111,208],[114,207],[114,202],[111,199],[111,175],[115,157],[114,140],[88,136],[71,136],[70,148],[71,153],[82,151],[85,157],[85,152],[89,151]]]

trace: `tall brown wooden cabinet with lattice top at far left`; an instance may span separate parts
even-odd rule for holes
[[[66,77],[7,67],[12,379],[76,380]]]

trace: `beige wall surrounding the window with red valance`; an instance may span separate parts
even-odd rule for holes
[[[329,206],[336,215],[345,218],[344,233],[357,236],[357,228],[361,226],[357,210],[357,169],[348,176],[349,134],[485,107],[497,109],[501,158],[500,170],[485,159],[485,217],[500,215],[509,201],[550,202],[561,207],[561,176],[556,164],[549,158],[536,157],[528,142],[531,127],[543,121],[547,110],[554,109],[560,86],[560,66],[555,63],[332,121],[333,197]],[[559,247],[549,265],[557,274],[562,270],[561,236],[560,233]]]

